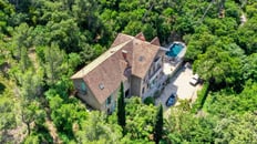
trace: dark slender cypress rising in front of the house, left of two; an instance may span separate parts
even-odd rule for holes
[[[122,126],[123,133],[124,127],[126,125],[126,115],[125,115],[125,102],[124,102],[124,88],[123,83],[121,83],[121,89],[119,93],[119,100],[117,100],[117,123]]]

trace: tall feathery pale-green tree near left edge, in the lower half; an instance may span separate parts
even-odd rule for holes
[[[42,124],[45,112],[42,110],[39,96],[42,92],[43,73],[39,69],[33,72],[31,69],[23,74],[19,73],[21,83],[21,120],[27,125],[29,135],[31,134],[31,123]]]

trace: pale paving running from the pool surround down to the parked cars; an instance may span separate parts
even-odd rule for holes
[[[166,60],[164,62],[163,72],[169,78],[169,83],[165,86],[161,96],[155,101],[155,104],[163,105],[164,111],[169,110],[169,107],[166,106],[166,101],[172,93],[176,93],[178,100],[188,100],[193,103],[197,97],[197,91],[202,88],[201,85],[193,86],[189,84],[189,81],[194,75],[193,70],[182,65],[187,49],[186,45],[183,42],[173,42],[168,49],[176,43],[182,44],[184,48],[176,58],[165,56]],[[176,102],[175,105],[178,104],[179,102]]]

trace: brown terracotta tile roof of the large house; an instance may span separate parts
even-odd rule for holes
[[[82,79],[102,104],[126,76],[144,78],[160,47],[120,33],[112,47],[71,79]],[[126,60],[122,51],[126,52]],[[131,69],[130,69],[130,68]]]

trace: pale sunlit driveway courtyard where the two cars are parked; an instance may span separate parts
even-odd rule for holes
[[[164,65],[164,70],[171,70],[168,64]],[[176,93],[181,100],[195,101],[197,93],[196,91],[201,88],[199,85],[193,86],[189,84],[189,80],[193,76],[192,69],[184,68],[184,65],[171,78],[169,83],[165,86],[161,96],[156,100],[156,103],[163,104],[164,110],[166,110],[166,101],[172,93]],[[178,103],[176,103],[178,104]]]

